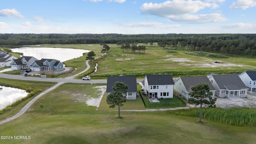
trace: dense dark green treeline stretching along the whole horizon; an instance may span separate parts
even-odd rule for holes
[[[143,43],[226,55],[256,55],[256,34],[0,34],[0,46]]]

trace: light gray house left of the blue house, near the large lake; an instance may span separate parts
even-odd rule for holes
[[[21,58],[12,60],[11,68],[14,70],[30,69],[30,64],[32,64],[32,62],[34,62],[35,60],[38,60],[38,59],[34,58],[33,56],[22,56]]]

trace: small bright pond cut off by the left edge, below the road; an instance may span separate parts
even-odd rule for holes
[[[2,88],[0,91],[0,110],[28,95],[28,92],[18,88],[6,86],[0,86],[0,88]]]

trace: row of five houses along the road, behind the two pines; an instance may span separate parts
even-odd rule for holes
[[[126,95],[127,99],[136,99],[136,76],[108,76],[107,94],[112,92],[112,86],[115,82],[124,82],[128,85]],[[184,98],[193,98],[189,95],[192,87],[197,84],[208,84],[212,97],[244,98],[247,92],[256,92],[256,71],[247,70],[242,74],[218,75],[209,74],[208,76],[187,76],[179,77],[173,80],[171,74],[146,75],[142,80],[142,92],[148,98],[173,98],[173,92],[176,91]],[[249,90],[249,91],[248,91]]]

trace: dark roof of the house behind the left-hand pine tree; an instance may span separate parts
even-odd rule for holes
[[[108,76],[106,92],[112,92],[112,87],[117,81],[128,85],[127,92],[137,92],[136,76]]]

